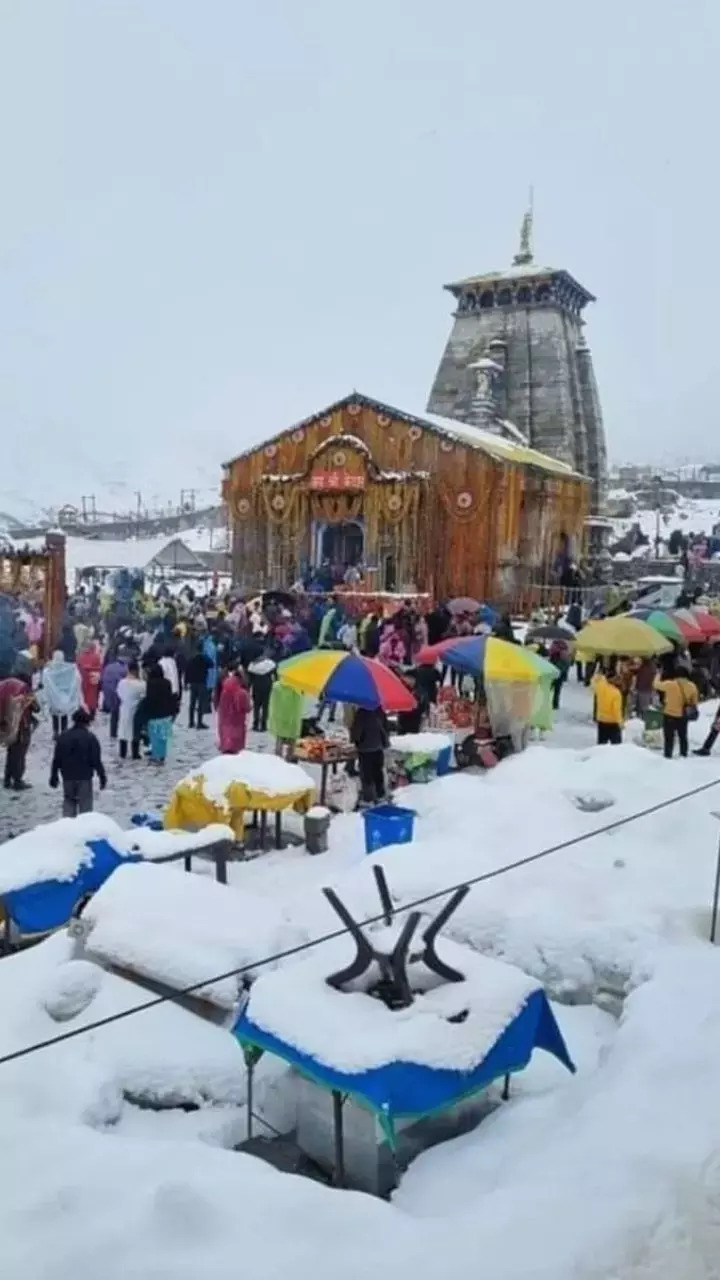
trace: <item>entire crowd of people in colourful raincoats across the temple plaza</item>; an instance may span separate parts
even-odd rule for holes
[[[255,731],[274,733],[282,751],[300,732],[316,731],[323,708],[305,699],[301,722],[286,726],[288,707],[283,705],[286,691],[277,681],[277,668],[295,654],[331,648],[359,652],[393,668],[416,700],[415,710],[398,717],[398,732],[418,732],[437,700],[439,685],[446,678],[461,685],[454,672],[418,664],[425,645],[489,631],[518,643],[507,614],[451,611],[445,604],[423,612],[404,600],[386,617],[372,607],[357,613],[357,602],[352,604],[350,612],[340,594],[268,591],[245,602],[214,594],[199,599],[191,593],[179,600],[154,602],[128,618],[111,612],[88,616],[85,598],[76,607],[70,602],[59,648],[45,667],[33,672],[23,652],[13,671],[0,678],[5,787],[28,787],[26,759],[41,704],[51,717],[55,740],[50,786],[63,785],[63,813],[74,815],[92,808],[94,778],[100,787],[106,785],[100,744],[91,728],[99,710],[108,716],[110,740],[117,742],[120,759],[138,760],[145,754],[152,764],[163,765],[183,696],[191,730],[209,728],[208,718],[215,709],[220,751],[245,748],[250,721]],[[578,604],[570,605],[566,621],[582,625]],[[671,755],[678,741],[684,755],[687,722],[698,696],[712,695],[715,681],[720,684],[715,649],[705,658],[698,655],[693,666],[685,666],[683,655],[671,655],[659,668],[651,659],[584,662],[573,652],[570,639],[533,641],[532,628],[528,643],[534,643],[556,667],[555,708],[573,667],[578,680],[592,686],[598,742],[621,741],[628,714],[644,713],[660,698],[665,754]],[[352,717],[348,728],[359,754],[363,790],[379,799],[379,762],[388,742],[384,713],[363,710]],[[708,754],[719,730],[720,718],[700,754]]]

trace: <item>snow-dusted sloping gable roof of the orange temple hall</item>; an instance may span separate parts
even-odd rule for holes
[[[441,431],[443,435],[454,436],[456,440],[460,440],[462,444],[469,444],[474,449],[482,449],[484,453],[489,453],[492,457],[496,457],[502,462],[514,462],[518,466],[536,467],[538,471],[550,471],[551,475],[580,475],[580,472],[574,471],[566,462],[551,458],[547,453],[539,453],[538,449],[533,449],[529,445],[516,444],[512,440],[503,439],[503,436],[496,435],[493,431],[484,431],[482,428],[473,426],[470,422],[459,422],[454,417],[439,417],[437,413],[410,413],[406,410],[396,408],[393,404],[387,404],[383,401],[374,399],[372,396],[364,396],[361,392],[354,392],[351,396],[345,396],[343,399],[334,401],[334,403],[328,404],[316,413],[311,413],[309,417],[302,419],[302,421],[286,426],[275,435],[272,435],[265,440],[260,440],[258,444],[251,445],[251,448],[243,449],[242,453],[236,454],[234,458],[229,458],[224,466],[229,467],[233,462],[240,461],[240,458],[247,458],[252,453],[258,453],[258,451],[263,449],[266,444],[274,444],[278,440],[282,440],[283,436],[288,435],[291,431],[296,431],[300,428],[307,428],[319,419],[327,417],[328,413],[333,412],[333,410],[343,408],[346,404],[352,403],[366,404],[369,408],[374,408],[378,413],[386,413],[388,417],[400,419],[401,422],[410,422],[415,426]],[[502,425],[502,422],[500,425]],[[514,424],[509,424],[509,426],[512,426],[515,431],[518,430]]]

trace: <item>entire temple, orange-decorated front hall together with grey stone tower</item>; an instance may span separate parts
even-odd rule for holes
[[[368,591],[511,599],[580,556],[606,470],[592,296],[534,268],[529,237],[527,216],[512,268],[447,287],[425,413],[352,392],[225,465],[241,589],[332,567]]]

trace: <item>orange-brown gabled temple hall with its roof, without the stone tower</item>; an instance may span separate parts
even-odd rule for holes
[[[589,483],[469,424],[354,393],[225,463],[233,585],[355,564],[368,591],[511,596],[580,553]]]

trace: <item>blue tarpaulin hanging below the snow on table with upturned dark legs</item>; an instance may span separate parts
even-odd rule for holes
[[[575,1070],[544,991],[534,991],[528,997],[483,1061],[470,1071],[418,1062],[386,1062],[369,1071],[340,1071],[263,1030],[245,1012],[237,1019],[233,1034],[242,1046],[274,1053],[316,1084],[351,1094],[379,1115],[389,1137],[396,1119],[447,1110],[493,1080],[520,1071],[536,1048],[546,1050],[568,1070]]]

